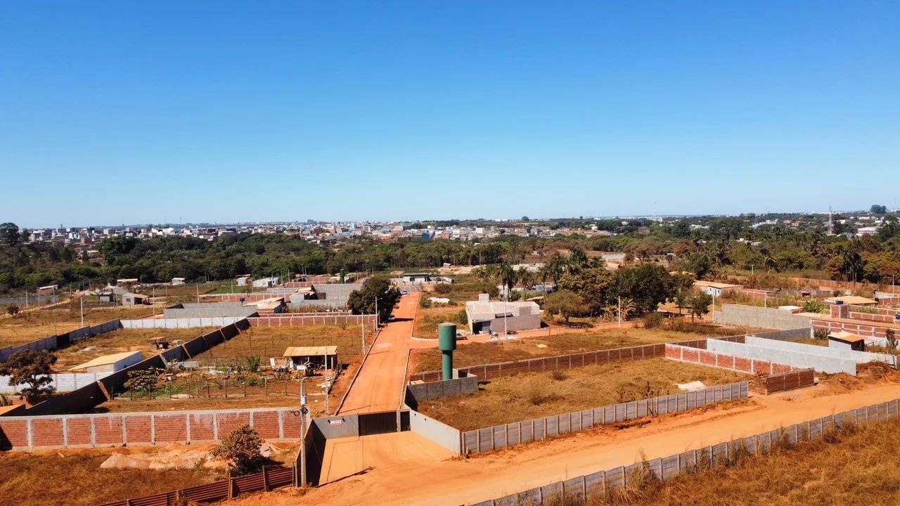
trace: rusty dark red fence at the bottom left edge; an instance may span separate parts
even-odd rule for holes
[[[245,474],[205,485],[196,485],[172,492],[145,495],[124,501],[107,502],[102,506],[179,506],[187,501],[211,502],[234,499],[242,493],[268,492],[293,485],[294,467],[264,466],[261,473]]]

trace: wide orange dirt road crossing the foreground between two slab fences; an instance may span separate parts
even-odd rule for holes
[[[539,485],[658,456],[705,447],[794,423],[900,398],[900,385],[815,397],[816,388],[760,396],[748,405],[684,413],[644,428],[599,429],[471,459],[431,456],[373,459],[365,474],[301,495],[297,489],[248,496],[236,504],[458,505],[501,497]],[[396,440],[402,440],[401,433]]]

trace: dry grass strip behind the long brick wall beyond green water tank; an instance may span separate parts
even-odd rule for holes
[[[706,328],[706,327],[705,327]],[[733,335],[734,329],[719,329],[718,335]],[[661,329],[612,329],[587,332],[572,332],[551,337],[511,339],[489,343],[461,344],[454,352],[457,367],[477,366],[509,362],[523,358],[554,357],[581,351],[622,348],[669,341],[701,339],[696,333],[676,332]],[[413,351],[410,371],[434,371],[441,367],[441,352],[437,348]]]

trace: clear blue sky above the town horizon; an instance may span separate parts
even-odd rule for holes
[[[13,2],[0,221],[893,206],[900,3]]]

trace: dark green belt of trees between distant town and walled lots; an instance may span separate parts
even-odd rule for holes
[[[881,211],[880,209],[878,211]],[[762,220],[784,221],[754,227]],[[101,258],[88,261],[76,249],[56,243],[26,243],[11,223],[0,225],[0,293],[33,290],[41,285],[76,286],[137,277],[145,283],[172,277],[228,279],[253,276],[348,271],[383,271],[393,268],[488,265],[522,261],[554,261],[572,251],[620,251],[634,262],[657,261],[669,270],[686,270],[715,277],[734,271],[816,271],[834,279],[891,283],[900,278],[900,223],[888,215],[877,235],[848,238],[851,226],[835,217],[829,236],[821,216],[752,214],[737,217],[699,217],[659,224],[646,220],[556,220],[551,238],[524,238],[501,234],[481,242],[401,239],[383,243],[374,239],[345,239],[317,244],[287,234],[224,235],[214,240],[193,238],[106,239],[96,248]],[[449,223],[437,223],[446,225]],[[498,228],[536,226],[495,223]],[[548,222],[540,224],[547,226]],[[610,236],[587,237],[569,227],[596,225]],[[563,231],[565,233],[563,233]],[[741,239],[741,240],[738,240]],[[596,258],[590,258],[599,265]]]

